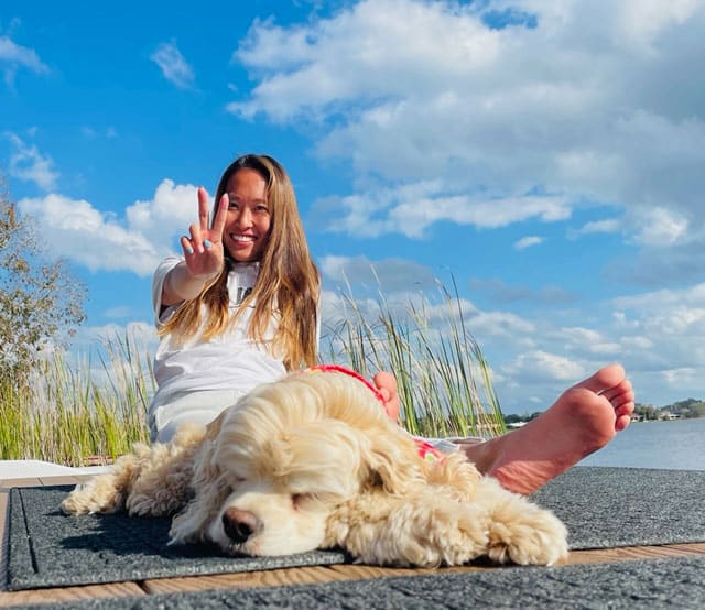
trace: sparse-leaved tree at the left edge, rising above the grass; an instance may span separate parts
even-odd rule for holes
[[[85,319],[85,287],[40,247],[0,178],[0,377],[26,383],[42,350],[64,347]]]

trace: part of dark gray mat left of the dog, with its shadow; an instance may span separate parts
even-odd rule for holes
[[[343,553],[227,557],[216,547],[166,546],[170,519],[124,514],[67,516],[59,504],[72,487],[10,491],[7,589],[64,587],[166,576],[196,576],[330,565]]]

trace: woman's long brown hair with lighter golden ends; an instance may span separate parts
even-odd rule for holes
[[[288,370],[312,367],[317,358],[321,279],[308,252],[296,196],[285,170],[268,155],[247,154],[236,159],[220,177],[215,206],[225,193],[230,176],[246,167],[258,172],[267,182],[270,211],[269,241],[252,293],[230,316],[228,273],[237,263],[226,251],[220,275],[207,284],[196,298],[184,303],[159,333],[175,333],[182,339],[192,337],[200,326],[200,311],[205,304],[207,318],[203,338],[209,339],[226,331],[253,303],[248,336],[264,344],[272,316],[275,316],[276,329],[270,351],[276,356],[283,355]]]

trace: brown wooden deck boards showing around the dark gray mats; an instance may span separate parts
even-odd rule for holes
[[[89,477],[51,477],[14,479],[0,481],[0,534],[6,538],[6,519],[9,487],[37,487],[52,484],[75,484]],[[571,553],[565,565],[599,564],[630,562],[634,559],[673,558],[705,555],[705,543],[670,544],[663,546],[633,546],[597,551],[576,551]],[[4,543],[0,556],[0,569],[6,569]],[[502,569],[499,567],[459,567],[440,568],[445,571],[471,571],[478,569]],[[113,582],[109,585],[89,585],[83,587],[64,587],[36,589],[28,591],[0,591],[0,607],[12,607],[29,603],[56,603],[59,601],[118,598],[126,596],[149,596],[154,593],[174,593],[183,591],[203,591],[208,589],[239,589],[252,587],[279,587],[284,585],[303,585],[328,582],[334,580],[352,580],[381,578],[386,576],[416,576],[434,574],[434,569],[399,569],[380,568],[359,565],[335,565],[250,571],[245,574],[225,574],[217,576],[195,576],[187,578],[162,578],[137,580],[132,582]]]

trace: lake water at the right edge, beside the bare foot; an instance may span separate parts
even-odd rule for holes
[[[705,418],[633,423],[581,465],[705,470]]]

